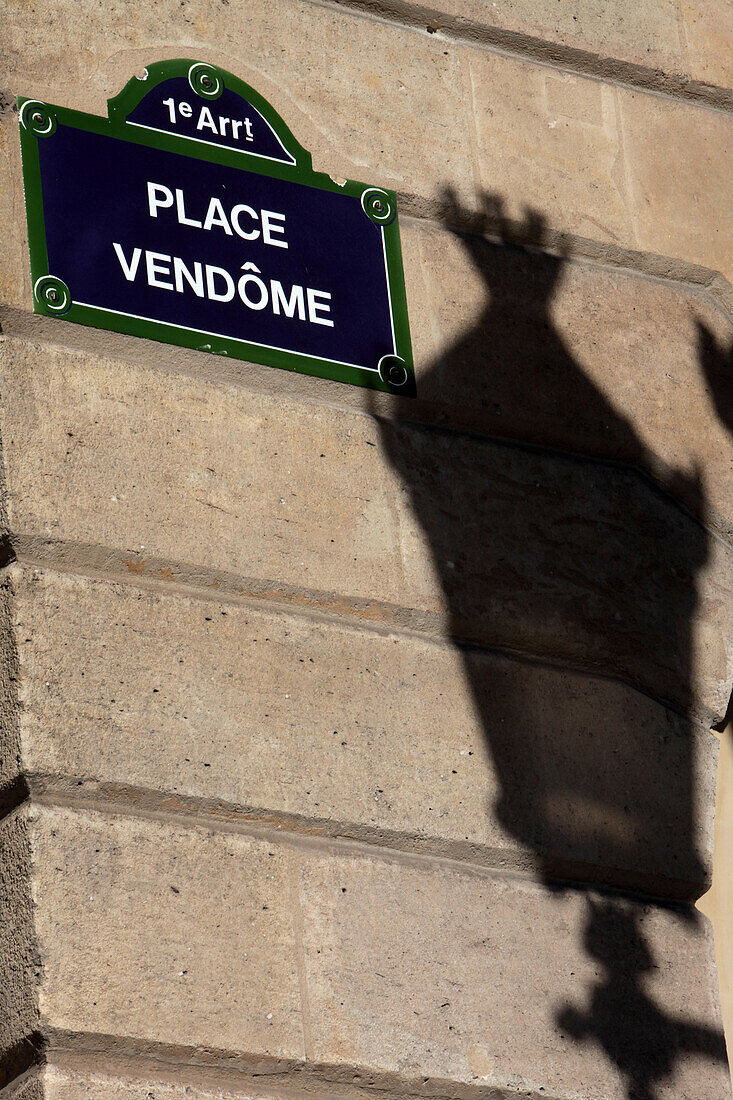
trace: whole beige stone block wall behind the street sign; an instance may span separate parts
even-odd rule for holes
[[[8,6],[3,1098],[731,1096],[729,15]],[[416,400],[32,314],[14,97],[180,56],[397,190]]]

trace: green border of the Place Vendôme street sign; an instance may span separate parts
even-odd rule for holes
[[[190,72],[194,66],[196,66],[196,76],[192,78]],[[295,164],[265,160],[243,150],[212,145],[173,133],[152,133],[150,130],[128,122],[130,113],[144,96],[164,80],[180,76],[188,77],[192,89],[205,100],[218,98],[225,87],[242,96],[272,127],[286,152],[294,158]],[[204,77],[204,82],[201,82],[201,77]],[[149,65],[144,76],[132,77],[118,96],[108,100],[107,113],[109,117],[107,119],[44,103],[35,99],[26,99],[22,96],[18,97],[18,112],[34,312],[43,314],[46,317],[63,316],[64,320],[74,321],[77,324],[89,324],[94,328],[110,329],[114,332],[124,332],[146,340],[157,340],[183,348],[209,351],[214,354],[230,355],[253,363],[264,363],[266,366],[277,366],[285,371],[297,371],[300,374],[332,378],[354,386],[415,396],[415,373],[407,318],[402,246],[400,244],[397,200],[394,191],[382,187],[370,187],[353,179],[337,184],[325,173],[314,172],[310,153],[295,140],[280,114],[254,88],[218,66],[178,58]],[[360,370],[348,363],[335,363],[315,356],[300,355],[296,352],[263,348],[245,340],[214,336],[197,329],[176,328],[152,319],[131,318],[123,314],[98,309],[94,306],[81,306],[73,301],[66,285],[48,270],[39,162],[39,142],[47,140],[59,122],[87,133],[107,134],[138,145],[147,145],[195,160],[208,161],[211,164],[243,168],[261,176],[288,179],[319,190],[352,195],[359,198],[365,215],[380,226],[384,235],[396,354],[385,355],[379,364],[375,364],[378,370],[372,372]]]

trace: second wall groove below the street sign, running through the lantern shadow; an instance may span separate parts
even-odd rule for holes
[[[265,606],[272,612],[307,615],[316,620],[335,623],[341,627],[350,625],[355,629],[375,634],[416,637],[435,645],[450,645],[461,650],[494,653],[512,661],[624,684],[659,706],[698,722],[703,728],[710,726],[709,715],[697,712],[693,707],[682,708],[663,696],[655,695],[641,684],[609,673],[603,668],[580,666],[555,652],[528,652],[492,646],[479,638],[461,637],[447,629],[445,616],[435,613],[376,600],[296,587],[282,581],[266,581],[207,570],[206,566],[186,562],[143,557],[135,550],[125,551],[28,535],[14,535],[12,541],[18,564],[21,566],[73,573],[107,583],[130,584],[162,595],[177,593],[217,603]]]

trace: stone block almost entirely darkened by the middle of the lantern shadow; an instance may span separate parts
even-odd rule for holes
[[[397,426],[382,436],[405,485],[418,606],[446,607],[459,637],[580,659],[668,700],[692,700],[700,675],[724,711],[730,551],[664,497],[559,457]]]

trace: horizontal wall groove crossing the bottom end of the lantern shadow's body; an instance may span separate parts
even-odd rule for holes
[[[678,908],[694,901],[707,883],[580,860],[544,858],[518,848],[416,836],[378,826],[305,817],[215,799],[186,796],[123,783],[69,776],[28,777],[29,806],[66,809],[178,824],[212,833],[238,833],[322,855],[379,858],[409,867],[446,867],[472,876],[532,879],[572,890],[598,890]]]

